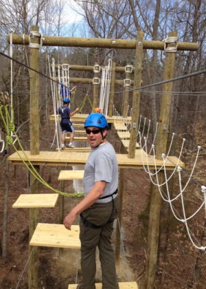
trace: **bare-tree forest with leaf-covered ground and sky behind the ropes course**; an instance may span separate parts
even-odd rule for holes
[[[31,25],[38,25],[41,34],[48,36],[78,36],[100,39],[136,39],[138,31],[144,31],[145,40],[163,41],[168,32],[177,31],[179,41],[198,43],[196,52],[176,52],[175,77],[189,75],[205,69],[205,16],[206,2],[190,1],[66,1],[66,0],[17,0],[0,1],[0,91],[10,94],[11,76],[10,60],[4,56],[10,55],[10,45],[7,36],[14,34],[29,34]],[[69,7],[69,10],[68,10]],[[75,12],[71,12],[73,9]],[[78,15],[75,17],[75,15]],[[71,19],[75,17],[72,22]],[[13,45],[13,107],[16,132],[25,150],[30,149],[30,48],[26,45]],[[81,47],[42,47],[40,50],[41,73],[49,75],[49,61],[54,58],[56,63],[75,65],[106,65],[108,58],[113,57],[117,66],[135,65],[135,50],[109,50]],[[144,85],[163,80],[165,52],[144,50],[142,80]],[[22,65],[20,64],[22,63]],[[89,72],[74,72],[73,77],[92,78]],[[117,74],[123,79],[123,74]],[[49,115],[53,114],[50,82],[41,76],[40,116],[41,116],[41,150],[51,149],[54,126],[49,123]],[[71,87],[75,83],[71,83]],[[142,89],[140,111],[141,115],[152,120],[150,134],[159,121],[161,103],[161,85]],[[122,114],[124,87],[116,86],[115,109]],[[88,94],[92,99],[92,85],[78,85],[72,107],[76,107]],[[190,186],[187,187],[185,208],[188,215],[196,211],[203,202],[201,186],[205,185],[205,106],[206,106],[205,74],[174,81],[172,105],[170,110],[169,139],[175,133],[175,142],[171,153],[178,156],[183,138],[186,144],[181,160],[185,162],[183,182],[190,178],[198,145],[201,152]],[[133,92],[130,92],[130,109],[132,108]],[[4,99],[1,99],[1,105]],[[10,98],[5,102],[10,101]],[[88,104],[82,113],[89,113]],[[4,137],[1,123],[1,137]],[[117,152],[119,142],[115,134],[111,138]],[[52,148],[54,149],[54,147]],[[52,150],[51,149],[51,150]],[[12,203],[20,193],[27,193],[29,184],[25,168],[12,167],[7,161],[13,153],[12,148],[6,154],[0,155],[1,181],[1,288],[27,288],[27,274],[23,268],[27,261],[28,245],[28,212],[12,209]],[[42,169],[44,178],[54,186],[58,186],[57,174],[54,169]],[[133,280],[139,288],[144,288],[146,265],[148,211],[150,204],[150,189],[148,175],[144,170],[126,170],[126,197],[123,204],[124,246],[126,258],[130,264]],[[141,189],[140,189],[141,188]],[[71,186],[69,186],[71,189]],[[179,189],[176,178],[170,184],[172,195]],[[133,200],[133,205],[130,201]],[[181,202],[175,204],[176,211],[181,215]],[[50,222],[54,222],[49,216]],[[128,215],[129,214],[129,215]],[[17,222],[17,224],[16,224]],[[206,245],[205,211],[199,211],[190,220],[190,231],[196,244]],[[3,237],[4,236],[4,237]],[[67,277],[49,271],[52,258],[49,250],[42,249],[40,285],[39,288],[66,288]],[[54,261],[54,259],[53,259]],[[58,264],[58,262],[57,262]],[[58,266],[56,264],[56,266]],[[165,202],[161,209],[161,224],[159,237],[159,254],[155,277],[155,288],[206,288],[205,252],[192,246],[184,224],[177,222]],[[21,281],[19,282],[19,279]],[[52,281],[51,281],[52,280]],[[121,281],[121,280],[120,280]],[[124,280],[122,280],[124,281]],[[20,284],[19,284],[20,283]]]

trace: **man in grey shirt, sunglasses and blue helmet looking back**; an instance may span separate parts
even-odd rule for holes
[[[85,123],[91,153],[84,168],[84,199],[65,217],[65,228],[71,230],[80,213],[82,284],[78,289],[95,289],[95,251],[98,246],[102,268],[102,288],[119,288],[115,255],[111,245],[113,221],[117,217],[118,164],[115,150],[106,141],[108,123],[103,114],[90,114]]]

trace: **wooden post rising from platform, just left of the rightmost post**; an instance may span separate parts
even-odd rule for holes
[[[143,39],[144,39],[144,32],[138,31],[136,55],[135,55],[134,89],[141,86]],[[128,148],[128,158],[135,158],[137,130],[138,130],[138,122],[139,122],[139,103],[140,103],[140,90],[134,90],[133,91],[133,112],[132,112],[131,129],[130,129],[130,144]]]

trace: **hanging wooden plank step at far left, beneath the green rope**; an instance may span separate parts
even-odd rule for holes
[[[29,193],[19,195],[12,208],[54,208],[58,193]]]

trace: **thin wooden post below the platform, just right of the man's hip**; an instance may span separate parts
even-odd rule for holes
[[[119,169],[119,187],[118,187],[118,195],[119,195],[119,216],[116,225],[116,239],[115,239],[115,255],[116,255],[116,263],[119,264],[119,255],[120,255],[120,246],[121,246],[121,224],[122,224],[122,201],[123,201],[123,192],[124,192],[124,169]]]

